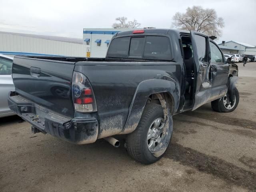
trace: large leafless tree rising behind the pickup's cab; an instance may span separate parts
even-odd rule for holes
[[[182,30],[194,30],[208,36],[221,36],[224,27],[222,17],[214,9],[203,9],[201,6],[188,7],[185,13],[176,12],[172,17],[172,27]]]

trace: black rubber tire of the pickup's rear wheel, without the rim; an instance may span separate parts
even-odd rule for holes
[[[158,161],[164,154],[155,157],[148,149],[148,129],[154,120],[164,118],[163,108],[159,104],[147,104],[144,108],[140,122],[136,130],[126,137],[128,154],[143,164],[151,164]],[[172,117],[169,118],[172,124]],[[168,141],[168,144],[170,139]]]

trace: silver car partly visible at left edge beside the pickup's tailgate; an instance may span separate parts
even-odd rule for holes
[[[7,102],[9,92],[14,91],[12,60],[12,57],[0,54],[0,117],[14,115]]]

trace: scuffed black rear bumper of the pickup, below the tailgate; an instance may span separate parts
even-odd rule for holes
[[[71,118],[16,95],[15,92],[8,96],[8,104],[18,116],[43,133],[73,144],[88,144],[97,140],[98,121],[94,117]]]

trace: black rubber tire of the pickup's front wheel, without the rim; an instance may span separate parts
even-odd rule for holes
[[[212,101],[212,109],[214,111],[217,111],[217,112],[224,112],[224,113],[227,113],[227,112],[232,112],[236,109],[236,107],[238,106],[238,103],[239,103],[239,92],[237,90],[237,88],[235,87],[235,90],[234,90],[234,93],[235,93],[235,97],[236,97],[236,103],[234,105],[233,108],[231,109],[227,109],[225,106],[224,106],[224,103],[223,103],[223,100],[224,100],[224,97],[220,98],[220,99],[217,99],[217,100],[214,100]]]

